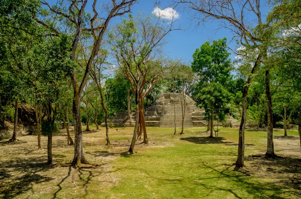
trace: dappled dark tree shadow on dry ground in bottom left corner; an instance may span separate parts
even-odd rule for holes
[[[14,198],[32,189],[33,183],[41,183],[54,179],[38,174],[38,172],[45,172],[54,166],[40,163],[44,160],[43,157],[31,157],[1,161],[0,195],[3,198]]]

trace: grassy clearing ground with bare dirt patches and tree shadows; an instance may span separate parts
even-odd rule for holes
[[[95,126],[91,126],[95,129]],[[85,129],[85,126],[83,126]],[[277,158],[265,158],[266,131],[246,130],[245,166],[237,168],[238,129],[148,127],[149,144],[127,152],[132,127],[84,131],[83,150],[93,165],[70,165],[73,145],[66,132],[53,137],[53,165],[47,165],[37,136],[0,141],[0,198],[300,198],[301,151],[297,131],[274,131]],[[178,129],[180,131],[180,129]],[[72,136],[73,136],[72,131]]]

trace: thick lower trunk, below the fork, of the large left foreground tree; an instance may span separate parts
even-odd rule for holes
[[[81,167],[81,163],[88,163],[88,161],[85,159],[83,152],[83,133],[80,122],[79,94],[79,88],[76,88],[72,102],[74,122],[74,157],[71,164]]]

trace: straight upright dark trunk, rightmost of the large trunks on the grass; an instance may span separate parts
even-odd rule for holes
[[[268,157],[275,156],[273,143],[273,110],[272,97],[270,93],[270,74],[269,70],[265,70],[265,95],[267,105],[267,148],[265,155]]]

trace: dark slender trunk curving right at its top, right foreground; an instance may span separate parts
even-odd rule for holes
[[[259,65],[260,59],[261,59],[261,55],[259,54],[252,68],[251,75],[248,76],[242,91],[242,114],[241,114],[241,121],[240,121],[239,132],[238,132],[238,153],[237,153],[237,160],[235,163],[236,166],[238,167],[243,167],[244,164],[244,130],[245,130],[245,125],[247,120],[248,90],[251,83],[252,74],[255,73]]]

